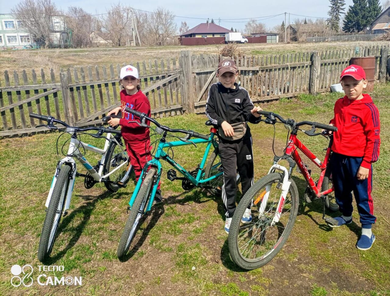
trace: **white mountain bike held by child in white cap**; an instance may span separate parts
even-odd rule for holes
[[[117,116],[121,115],[118,114]],[[78,128],[69,126],[53,116],[30,113],[30,117],[47,121],[47,124],[40,126],[46,126],[49,129],[64,130],[65,127],[64,133],[71,136],[68,151],[64,154],[65,157],[57,163],[46,199],[46,217],[38,247],[38,259],[44,262],[49,258],[53,248],[61,216],[65,216],[67,209],[69,209],[76,177],[84,177],[84,186],[87,189],[92,188],[98,182],[103,182],[108,190],[115,192],[121,187],[126,187],[133,167],[129,165],[129,157],[122,144],[121,131],[115,128],[105,128],[103,126]],[[110,118],[111,116],[106,116],[103,118],[103,122],[107,122]],[[54,123],[58,123],[58,125],[54,125]],[[90,130],[95,130],[97,133],[84,133]],[[107,133],[107,135],[103,136],[103,133]],[[80,134],[105,138],[104,148],[99,149],[80,141]],[[101,160],[97,162],[96,166],[93,167],[85,158],[85,153],[81,152],[85,152],[85,150],[101,154]],[[87,170],[86,174],[78,172],[76,160]]]

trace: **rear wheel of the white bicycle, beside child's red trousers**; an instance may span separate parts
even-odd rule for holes
[[[122,144],[122,142],[119,142]],[[115,141],[111,141],[110,145],[107,149],[107,158],[103,167],[103,174],[108,174],[111,172],[114,168],[121,165],[124,161],[128,161],[127,152],[126,150],[122,151],[122,148],[118,146],[118,144]],[[115,173],[107,177],[107,180],[114,180],[114,181],[121,181],[124,174],[126,174],[128,166],[124,165],[121,167],[121,169],[117,170]],[[117,184],[112,183],[104,183],[106,188],[111,192],[116,192],[121,188]]]

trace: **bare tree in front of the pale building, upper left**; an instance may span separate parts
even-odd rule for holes
[[[11,13],[16,14],[34,42],[44,44],[46,48],[53,45],[50,38],[53,29],[52,17],[62,13],[51,0],[23,0],[11,9]]]

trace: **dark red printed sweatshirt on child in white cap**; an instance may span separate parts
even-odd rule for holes
[[[130,109],[137,110],[145,113],[151,117],[150,103],[147,97],[138,90],[135,94],[127,94],[125,89],[121,91],[121,107],[122,107],[122,118],[119,120],[119,124],[122,126],[122,137],[125,142],[129,141],[140,141],[149,138],[149,128],[139,126],[137,122],[140,122],[138,116],[134,116],[126,112],[124,109],[129,107]],[[129,122],[133,121],[133,122]],[[134,122],[137,121],[137,122]],[[146,122],[149,124],[149,122]]]

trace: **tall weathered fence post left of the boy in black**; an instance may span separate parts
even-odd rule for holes
[[[181,103],[183,110],[188,113],[194,112],[194,89],[192,81],[191,51],[180,51],[180,82],[183,85],[184,94],[181,94]]]

